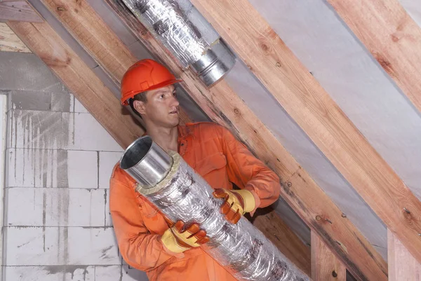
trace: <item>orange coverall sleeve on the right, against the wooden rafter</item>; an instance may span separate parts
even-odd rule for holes
[[[222,149],[227,158],[229,181],[240,189],[252,191],[257,199],[256,208],[267,207],[274,203],[281,192],[279,177],[261,160],[255,158],[227,128],[221,126],[220,130]],[[254,211],[251,212],[252,215],[253,213]]]

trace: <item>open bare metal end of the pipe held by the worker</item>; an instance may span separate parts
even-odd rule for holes
[[[173,158],[152,142],[149,136],[136,139],[128,146],[120,160],[121,169],[138,179],[145,189],[159,184],[172,165]]]

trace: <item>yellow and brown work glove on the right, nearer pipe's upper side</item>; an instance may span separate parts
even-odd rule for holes
[[[213,196],[223,198],[225,202],[221,206],[222,214],[232,224],[236,224],[243,214],[255,209],[253,193],[246,189],[232,190],[215,189]]]

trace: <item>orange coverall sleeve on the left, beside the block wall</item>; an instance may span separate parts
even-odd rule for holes
[[[173,255],[163,249],[161,235],[151,234],[143,223],[133,183],[114,167],[109,182],[109,209],[123,259],[138,270],[152,270]]]

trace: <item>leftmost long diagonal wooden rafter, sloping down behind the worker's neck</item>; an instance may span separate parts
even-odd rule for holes
[[[144,133],[129,113],[122,113],[119,100],[50,25],[8,22],[8,26],[65,83],[123,148]]]

